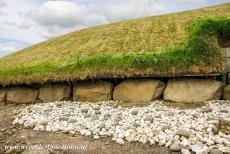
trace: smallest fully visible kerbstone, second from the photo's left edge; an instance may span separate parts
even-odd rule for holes
[[[35,103],[38,90],[30,88],[12,88],[7,92],[7,102],[13,103]]]

